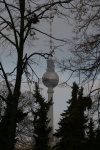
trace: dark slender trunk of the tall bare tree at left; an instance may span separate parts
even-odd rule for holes
[[[20,13],[21,13],[20,37],[19,37],[19,48],[17,49],[17,53],[18,53],[17,72],[16,72],[16,82],[15,82],[14,94],[12,96],[13,106],[11,109],[11,120],[10,120],[8,138],[7,138],[7,150],[14,150],[17,107],[18,107],[18,100],[19,100],[19,96],[20,96],[21,79],[22,79],[22,74],[23,74],[25,0],[20,0],[19,4],[20,4]]]

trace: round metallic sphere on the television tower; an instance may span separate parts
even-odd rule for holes
[[[56,87],[59,82],[59,77],[56,72],[46,72],[42,77],[42,82],[46,87]]]

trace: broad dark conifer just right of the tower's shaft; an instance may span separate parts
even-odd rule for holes
[[[84,111],[88,106],[84,100],[83,88],[79,89],[78,85],[73,83],[72,98],[68,102],[68,109],[61,114],[62,118],[58,123],[59,129],[55,133],[59,139],[55,149],[83,150],[85,148],[88,118]],[[91,99],[87,99],[87,101],[91,101]]]

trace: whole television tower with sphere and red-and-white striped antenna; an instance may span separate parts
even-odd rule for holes
[[[58,74],[55,72],[54,60],[52,56],[52,11],[50,10],[50,55],[47,59],[47,70],[42,77],[43,84],[48,88],[48,101],[53,102],[53,88],[57,86],[59,82]],[[51,137],[53,136],[54,123],[53,123],[53,105],[48,112],[48,119],[50,120],[49,126],[52,127]]]

